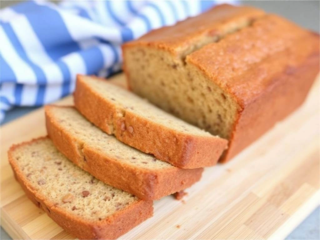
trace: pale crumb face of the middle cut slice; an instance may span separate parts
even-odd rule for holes
[[[116,137],[102,132],[72,107],[51,107],[52,116],[63,129],[74,138],[84,142],[84,147],[96,149],[103,156],[117,159],[134,167],[147,169],[166,169],[173,166],[160,161],[150,154],[132,148]]]

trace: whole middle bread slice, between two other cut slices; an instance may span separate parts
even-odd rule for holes
[[[46,126],[55,146],[101,181],[141,199],[159,199],[200,180],[198,169],[180,169],[102,132],[73,107],[46,106]]]

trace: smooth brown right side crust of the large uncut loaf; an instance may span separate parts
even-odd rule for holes
[[[281,54],[288,55],[290,51]],[[276,55],[268,61],[273,62],[274,66],[281,66],[277,60],[283,60],[283,58]],[[239,112],[230,139],[230,146],[220,162],[224,163],[230,160],[278,121],[297,109],[304,102],[319,73],[319,64],[319,49],[315,49],[299,65],[285,65],[282,71],[271,75],[270,81],[273,83],[243,111]],[[271,65],[269,67],[265,70],[270,69],[271,72]]]

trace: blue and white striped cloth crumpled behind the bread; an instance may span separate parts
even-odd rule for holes
[[[0,12],[1,118],[73,92],[77,73],[121,69],[121,44],[221,1],[25,1]]]

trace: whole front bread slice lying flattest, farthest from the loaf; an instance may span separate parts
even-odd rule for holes
[[[115,239],[152,216],[152,201],[95,179],[47,137],[13,145],[8,156],[31,201],[79,239]]]

